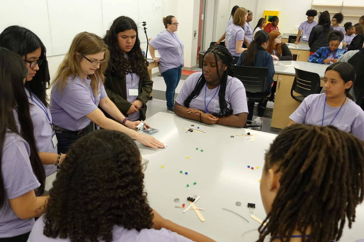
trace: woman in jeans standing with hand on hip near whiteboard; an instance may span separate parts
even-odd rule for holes
[[[166,83],[167,111],[174,113],[174,94],[181,79],[183,59],[183,43],[175,33],[178,30],[177,19],[169,15],[162,19],[166,30],[149,41],[149,52],[155,62],[159,62],[159,72]],[[158,50],[161,58],[155,57]]]

